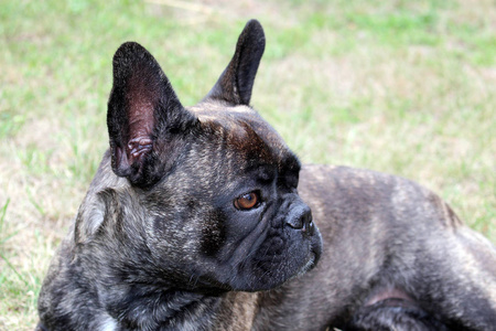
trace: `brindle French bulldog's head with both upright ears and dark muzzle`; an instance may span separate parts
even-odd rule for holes
[[[185,108],[145,49],[121,45],[107,124],[126,184],[100,194],[104,216],[84,222],[101,224],[76,236],[118,236],[122,252],[141,250],[141,274],[185,289],[270,289],[313,267],[322,241],[296,192],[300,162],[249,106],[263,49],[248,22],[213,89]],[[118,201],[126,194],[132,205]]]

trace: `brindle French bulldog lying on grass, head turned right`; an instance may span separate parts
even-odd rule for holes
[[[301,166],[249,106],[265,43],[249,21],[193,107],[118,49],[110,146],[36,330],[496,330],[488,239],[409,180]]]

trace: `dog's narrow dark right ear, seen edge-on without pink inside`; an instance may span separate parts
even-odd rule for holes
[[[256,20],[249,21],[239,35],[233,60],[204,100],[219,99],[233,105],[249,105],[265,49],[266,36],[261,24]]]

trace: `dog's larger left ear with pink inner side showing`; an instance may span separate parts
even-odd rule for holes
[[[114,55],[107,114],[114,172],[136,185],[153,184],[173,162],[175,135],[194,122],[153,56],[138,43],[122,44]]]

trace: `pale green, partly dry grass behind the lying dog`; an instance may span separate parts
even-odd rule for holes
[[[304,162],[416,180],[496,242],[493,1],[208,3],[2,2],[0,330],[36,322],[50,258],[107,148],[117,47],[148,47],[192,105],[250,18],[267,33],[252,104]]]

